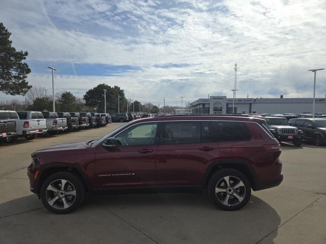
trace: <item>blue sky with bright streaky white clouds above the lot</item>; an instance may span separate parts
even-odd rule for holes
[[[326,68],[326,1],[2,0],[0,22],[29,52],[28,81],[83,97],[99,83],[174,105],[208,95],[312,97]],[[316,95],[326,93],[326,71]],[[0,93],[0,100],[12,97]]]

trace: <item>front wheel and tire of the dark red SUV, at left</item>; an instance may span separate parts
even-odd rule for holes
[[[62,182],[65,182],[63,190]],[[66,194],[67,192],[75,195]],[[85,190],[78,176],[70,172],[58,172],[44,180],[40,196],[43,205],[48,210],[56,214],[68,214],[83,203]]]

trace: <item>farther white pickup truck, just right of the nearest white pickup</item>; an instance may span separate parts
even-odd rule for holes
[[[58,113],[55,112],[42,112],[43,117],[46,119],[47,134],[54,136],[58,132],[64,132],[68,129],[67,119],[59,118]]]

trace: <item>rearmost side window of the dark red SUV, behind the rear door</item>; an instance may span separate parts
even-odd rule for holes
[[[243,122],[212,121],[213,131],[218,141],[247,141],[250,132]]]

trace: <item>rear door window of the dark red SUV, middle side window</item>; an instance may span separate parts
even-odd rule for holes
[[[161,144],[200,143],[200,133],[200,121],[164,122]]]

